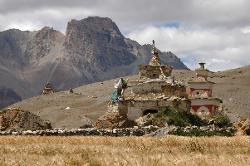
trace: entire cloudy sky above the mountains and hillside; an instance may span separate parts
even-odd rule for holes
[[[0,31],[65,32],[71,19],[109,17],[140,44],[219,71],[250,65],[249,11],[250,0],[0,0]]]

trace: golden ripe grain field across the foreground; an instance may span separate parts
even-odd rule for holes
[[[250,137],[0,137],[0,165],[250,165]]]

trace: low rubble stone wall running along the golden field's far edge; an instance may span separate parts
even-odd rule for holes
[[[27,131],[0,131],[0,136],[4,135],[23,135],[23,136],[110,136],[110,137],[122,137],[122,136],[166,136],[166,135],[184,135],[184,136],[233,136],[235,134],[234,127],[217,128],[213,125],[210,126],[167,126],[159,128],[157,126],[146,126],[134,128],[122,128],[122,129],[53,129],[53,130],[27,130]],[[194,132],[196,131],[196,132]],[[201,134],[199,134],[201,133]]]

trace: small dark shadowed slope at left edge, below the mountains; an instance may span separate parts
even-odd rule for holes
[[[6,107],[21,100],[22,98],[18,96],[12,89],[0,87],[0,108]]]

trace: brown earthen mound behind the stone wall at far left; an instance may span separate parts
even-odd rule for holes
[[[3,130],[45,130],[51,129],[48,121],[42,120],[39,116],[20,109],[9,109],[0,112],[0,129]]]

